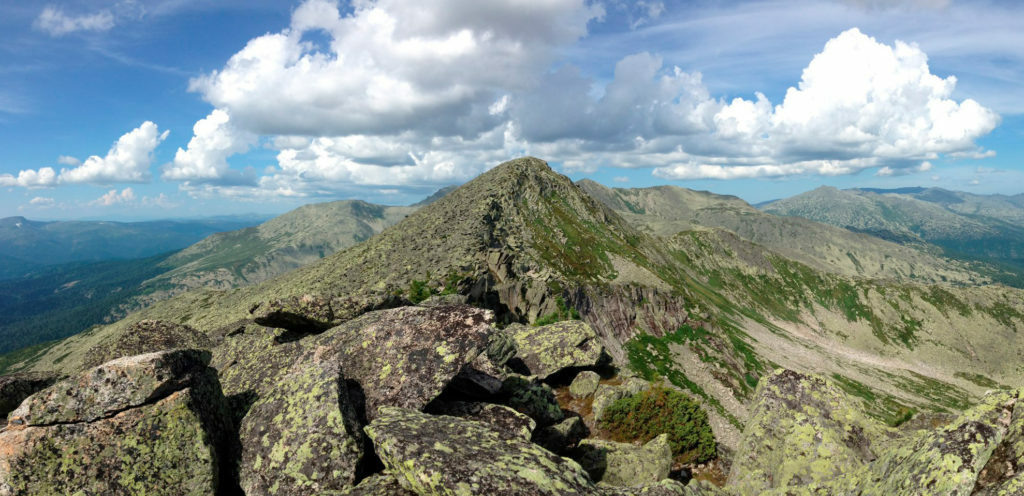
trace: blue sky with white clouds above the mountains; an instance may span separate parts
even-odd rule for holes
[[[1015,195],[1022,89],[1011,0],[0,0],[0,217],[409,204],[524,155]]]

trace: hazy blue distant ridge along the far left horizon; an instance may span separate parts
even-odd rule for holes
[[[0,279],[27,275],[40,266],[166,253],[214,233],[259,221],[233,217],[146,222],[0,218]]]

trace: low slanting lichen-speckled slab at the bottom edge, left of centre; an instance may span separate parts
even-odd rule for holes
[[[420,495],[590,495],[574,461],[479,422],[382,408],[366,427],[384,464]]]

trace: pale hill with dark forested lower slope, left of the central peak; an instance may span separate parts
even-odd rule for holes
[[[451,189],[440,190],[417,205],[428,204],[447,192]],[[114,322],[129,312],[193,289],[229,289],[264,281],[366,241],[418,208],[359,200],[310,204],[259,225],[212,234],[180,251],[168,250],[158,256],[32,265],[27,275],[0,281],[0,315],[5,317],[0,320],[0,353]],[[144,228],[165,223],[176,225],[176,221],[145,222]],[[96,224],[95,230],[106,224],[113,225],[110,229],[124,226],[117,222]],[[72,231],[68,226],[49,229],[65,234]],[[118,233],[128,237],[125,243],[136,241],[129,231]]]

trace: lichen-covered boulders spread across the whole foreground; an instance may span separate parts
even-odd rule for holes
[[[315,296],[252,315],[209,333],[142,321],[77,374],[0,377],[0,495],[1024,491],[1018,390],[894,428],[826,379],[777,370],[720,487],[679,470],[668,432],[597,426],[653,384],[617,371],[581,321],[499,328],[465,304]]]

